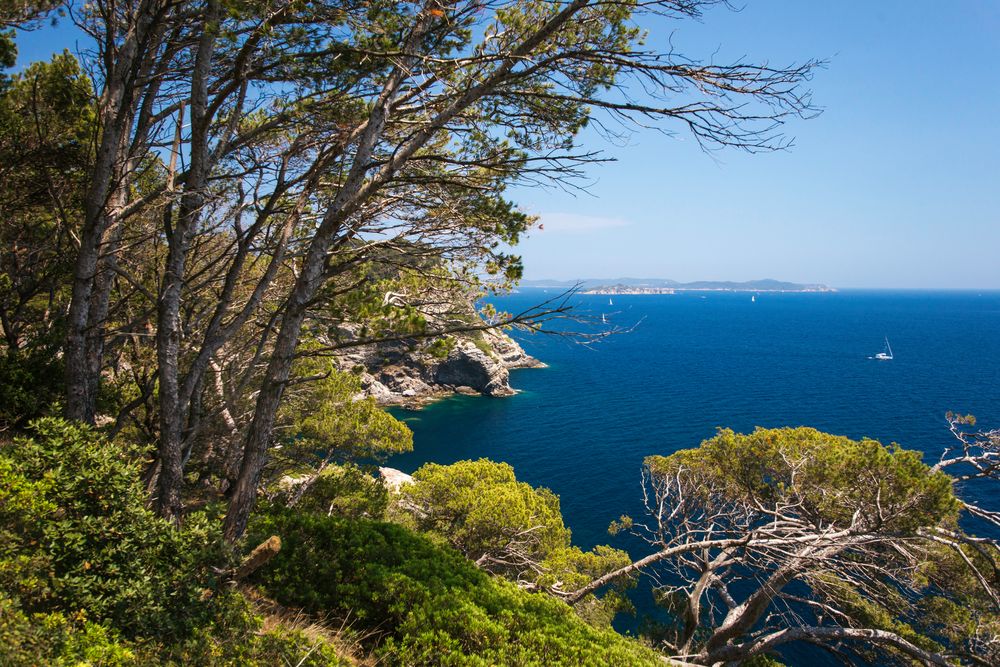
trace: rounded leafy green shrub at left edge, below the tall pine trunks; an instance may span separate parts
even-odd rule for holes
[[[126,637],[184,636],[210,617],[226,551],[200,514],[176,530],[146,508],[130,453],[53,418],[0,449],[0,588]]]

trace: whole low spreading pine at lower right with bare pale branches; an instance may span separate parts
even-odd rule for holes
[[[959,526],[942,462],[811,428],[720,429],[646,460],[650,523],[612,527],[655,551],[595,584],[652,570],[670,617],[657,644],[696,664],[799,641],[867,663],[990,662],[998,553]]]

